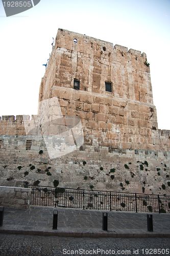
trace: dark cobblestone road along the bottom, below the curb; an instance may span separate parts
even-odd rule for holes
[[[59,238],[0,234],[0,255],[170,255],[169,238]],[[74,252],[75,250],[79,253]],[[94,251],[93,251],[94,249]],[[97,251],[98,249],[98,251]],[[143,249],[143,250],[142,250]],[[150,254],[148,253],[150,250]],[[155,251],[152,251],[155,249]],[[161,250],[158,250],[161,249]],[[165,251],[164,251],[165,249]],[[71,251],[72,250],[72,251]],[[74,250],[74,251],[73,251]],[[99,251],[103,250],[103,251]],[[105,250],[105,254],[104,254]],[[110,250],[110,251],[109,251]],[[134,253],[134,250],[136,254]]]

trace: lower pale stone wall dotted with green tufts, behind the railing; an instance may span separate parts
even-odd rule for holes
[[[32,140],[26,150],[26,139]],[[83,145],[80,150],[50,159],[37,136],[3,136],[0,185],[35,184],[150,194],[170,194],[170,153],[112,150]]]

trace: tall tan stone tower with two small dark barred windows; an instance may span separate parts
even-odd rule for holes
[[[59,29],[39,101],[58,97],[64,116],[79,116],[85,145],[169,151],[147,64],[140,51]]]

